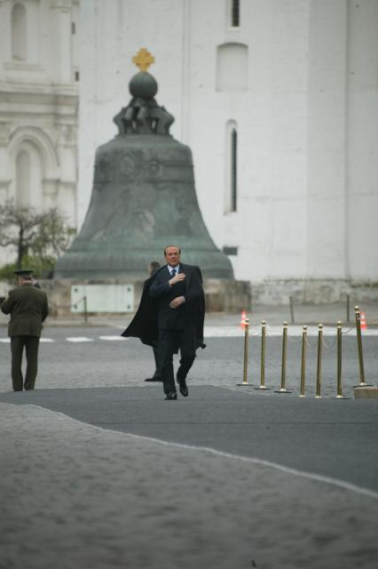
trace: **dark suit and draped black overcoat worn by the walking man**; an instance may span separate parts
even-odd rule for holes
[[[121,334],[124,337],[139,338],[143,343],[153,347],[156,342],[161,344],[161,338],[164,336],[165,340],[163,346],[160,346],[158,358],[160,368],[164,365],[169,368],[169,378],[164,383],[166,393],[169,388],[172,389],[173,354],[181,349],[182,361],[177,373],[179,373],[178,377],[180,374],[182,376],[185,374],[186,377],[186,373],[193,364],[195,350],[205,348],[203,343],[205,295],[202,288],[201,270],[199,267],[181,263],[180,270],[185,273],[184,284],[177,283],[172,287],[169,286],[168,281],[171,277],[167,266],[159,268],[151,278],[146,280],[137,313]],[[176,288],[177,285],[178,288]],[[184,290],[180,289],[181,286]],[[185,303],[178,309],[170,309],[169,302],[180,296],[179,290],[185,296]],[[167,337],[169,337],[168,341],[166,341]],[[163,358],[166,359],[165,364],[161,361],[162,351],[164,352]],[[185,362],[183,362],[184,356],[186,357]],[[167,375],[167,369],[165,372]],[[175,389],[174,381],[173,389]]]

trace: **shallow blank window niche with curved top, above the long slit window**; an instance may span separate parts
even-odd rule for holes
[[[217,46],[217,91],[247,91],[248,45]]]

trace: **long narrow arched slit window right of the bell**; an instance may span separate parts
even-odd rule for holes
[[[224,211],[236,212],[238,209],[238,126],[235,121],[226,124],[225,148],[225,207]]]

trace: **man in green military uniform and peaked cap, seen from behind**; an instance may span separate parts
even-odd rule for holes
[[[33,286],[32,270],[15,270],[17,284],[1,305],[10,314],[8,335],[11,336],[12,385],[14,391],[34,389],[38,367],[39,339],[43,320],[49,314],[46,293]],[[27,355],[27,373],[23,381],[21,364],[23,351]]]

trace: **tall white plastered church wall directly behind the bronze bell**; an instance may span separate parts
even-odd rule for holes
[[[138,72],[131,58],[145,46],[155,57],[156,99],[176,117],[171,132],[193,150],[210,235],[237,249],[235,276],[286,281],[285,291],[304,281],[337,281],[342,290],[350,277],[377,279],[377,0],[241,1],[233,28],[231,4],[83,0],[79,224],[95,150],[116,132],[112,117]]]

